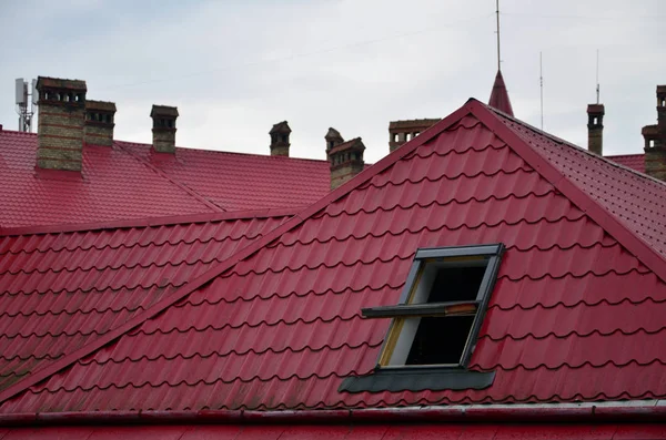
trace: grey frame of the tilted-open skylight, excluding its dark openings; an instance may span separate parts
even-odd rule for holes
[[[391,325],[389,332],[380,350],[377,358],[377,369],[424,369],[424,368],[444,368],[444,369],[466,369],[478,337],[478,331],[483,324],[487,305],[490,301],[491,294],[493,291],[495,280],[497,278],[497,272],[500,269],[500,263],[502,254],[504,253],[504,245],[502,243],[486,244],[486,245],[474,245],[474,246],[453,246],[453,247],[436,247],[436,248],[418,248],[414,256],[412,267],[407,275],[400,303],[397,305],[370,307],[362,309],[363,316],[366,318],[391,318]],[[413,304],[412,300],[415,297],[416,289],[421,283],[421,278],[424,270],[432,265],[444,266],[485,266],[485,272],[482,277],[475,300],[463,300],[463,301],[446,301],[446,303],[418,303]],[[428,317],[428,316],[441,316],[445,319],[447,310],[452,310],[460,305],[475,305],[476,311],[474,321],[467,335],[465,347],[461,354],[458,364],[434,364],[434,365],[405,365],[405,364],[391,364],[395,356],[396,345],[398,344],[401,336],[404,336],[403,327],[406,319],[410,317]],[[467,315],[468,316],[468,315]],[[411,335],[411,341],[408,348],[414,344],[414,338],[418,325],[415,327],[412,325],[412,329],[408,331]],[[400,349],[402,357],[404,354],[405,346]]]

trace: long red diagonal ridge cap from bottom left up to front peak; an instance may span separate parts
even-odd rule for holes
[[[303,222],[305,222],[307,218],[315,215],[323,207],[325,207],[329,204],[331,204],[332,202],[345,196],[346,194],[349,194],[356,187],[363,185],[365,182],[367,182],[369,180],[374,177],[376,174],[383,172],[384,170],[386,170],[387,167],[390,167],[391,165],[393,165],[394,163],[396,163],[397,161],[400,161],[407,154],[412,153],[418,146],[425,144],[433,137],[437,136],[440,133],[442,133],[443,131],[451,127],[453,124],[458,122],[461,119],[463,119],[465,115],[470,114],[471,112],[472,112],[472,108],[470,105],[470,101],[467,101],[467,103],[465,103],[463,106],[457,109],[455,112],[451,113],[448,116],[444,117],[436,124],[432,125],[430,129],[427,129],[426,131],[421,133],[418,136],[414,137],[412,141],[408,141],[407,143],[402,145],[400,149],[390,153],[387,156],[382,158],[380,162],[375,163],[370,168],[362,171],[355,177],[351,178],[343,185],[339,186],[336,190],[333,190],[327,195],[322,197],[320,201],[317,201],[314,204],[312,204],[311,206],[306,207],[301,213],[294,215],[292,218],[290,218],[289,221],[286,221],[283,224],[281,224],[280,226],[275,227],[274,229],[272,229],[264,236],[255,239],[254,242],[251,242],[248,246],[241,248],[235,254],[231,255],[229,258],[224,259],[223,262],[220,262],[218,265],[215,265],[214,267],[204,272],[203,274],[199,275],[196,278],[192,279],[190,283],[178,288],[171,295],[169,295],[169,296],[162,298],[161,300],[159,300],[158,303],[153,304],[147,310],[134,316],[132,319],[119,325],[118,327],[107,331],[104,335],[100,335],[98,338],[90,341],[89,344],[85,344],[83,347],[77,349],[75,351],[73,351],[69,355],[65,355],[63,358],[49,364],[48,366],[32,372],[30,376],[27,376],[23,379],[14,382],[12,386],[6,388],[4,390],[2,390],[0,392],[0,403],[26,391],[31,386],[33,386],[44,379],[48,379],[49,377],[57,374],[58,371],[70,367],[72,364],[77,362],[78,360],[80,360],[87,356],[90,356],[91,354],[95,352],[103,346],[112,342],[113,340],[122,337],[124,334],[139,327],[144,321],[152,318],[153,316],[161,314],[162,311],[164,311],[165,309],[171,307],[173,304],[175,304],[179,300],[189,296],[192,291],[196,290],[204,284],[211,282],[216,276],[221,275],[222,273],[224,273],[228,269],[230,269],[231,267],[233,267],[236,263],[250,257],[252,254],[256,253],[258,250],[260,250],[261,248],[263,248],[264,246],[266,246],[268,244],[273,242],[275,238],[280,237],[285,232],[291,231],[291,229],[295,228],[296,226],[301,225]]]

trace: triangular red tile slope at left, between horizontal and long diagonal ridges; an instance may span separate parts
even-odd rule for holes
[[[209,217],[1,237],[0,391],[145,311],[284,219]]]

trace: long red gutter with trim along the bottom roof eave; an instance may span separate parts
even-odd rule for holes
[[[634,405],[634,402],[636,405]],[[451,407],[363,408],[339,410],[202,410],[202,411],[87,411],[0,415],[0,427],[167,423],[369,423],[468,421],[666,421],[663,400],[546,405],[457,405]],[[628,403],[628,405],[627,405]]]

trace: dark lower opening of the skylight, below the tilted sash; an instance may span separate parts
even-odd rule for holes
[[[405,365],[460,364],[474,316],[421,318]]]

